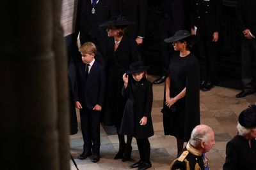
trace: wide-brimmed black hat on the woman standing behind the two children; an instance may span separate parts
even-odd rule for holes
[[[100,24],[100,27],[108,27],[108,26],[115,26],[115,25],[131,25],[134,22],[130,22],[122,15],[111,17],[107,22]]]

